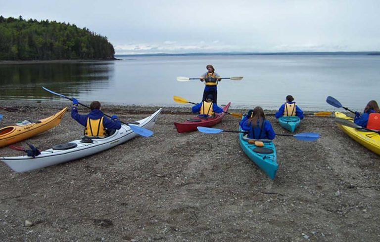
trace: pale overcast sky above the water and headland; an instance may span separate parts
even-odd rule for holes
[[[86,27],[116,54],[380,50],[380,0],[0,0],[0,15]]]

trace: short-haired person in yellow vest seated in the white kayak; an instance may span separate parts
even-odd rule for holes
[[[100,102],[94,101],[90,104],[91,112],[87,115],[80,115],[78,114],[78,100],[73,98],[71,117],[86,127],[86,136],[104,138],[107,134],[112,133],[113,130],[121,128],[121,122],[117,116],[112,115],[111,119],[108,119],[100,111],[100,107]]]

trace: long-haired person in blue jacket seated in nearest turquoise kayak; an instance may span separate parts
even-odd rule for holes
[[[264,110],[256,107],[239,122],[242,130],[248,131],[249,139],[274,139],[276,133],[270,121],[265,119]]]

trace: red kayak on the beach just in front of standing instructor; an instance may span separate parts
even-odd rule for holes
[[[230,105],[231,105],[231,102],[229,102],[226,106],[223,107],[223,111],[227,112]],[[212,118],[200,118],[200,117],[195,116],[184,122],[174,122],[174,125],[176,125],[177,131],[179,133],[185,133],[185,132],[197,130],[196,127],[198,126],[203,126],[203,127],[214,126],[218,122],[222,121],[224,116],[226,116],[226,113],[215,114],[215,117],[212,117]]]

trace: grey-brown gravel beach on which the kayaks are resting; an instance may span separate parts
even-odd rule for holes
[[[0,101],[0,124],[39,120],[65,106],[71,103]],[[128,122],[157,108],[103,104],[102,110]],[[277,133],[288,133],[274,111],[266,114]],[[164,107],[149,138],[31,172],[15,173],[1,162],[0,240],[379,240],[380,157],[331,117],[302,121],[297,132],[320,133],[316,142],[276,137],[273,181],[241,151],[237,134],[178,133],[174,121],[189,117],[189,107]],[[237,130],[238,119],[226,116],[215,127]],[[55,128],[17,145],[48,149],[82,133],[67,113]],[[0,157],[18,155],[0,148]]]

